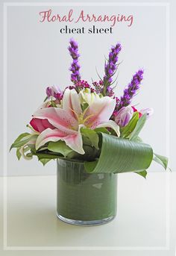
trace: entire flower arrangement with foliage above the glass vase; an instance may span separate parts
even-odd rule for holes
[[[20,134],[10,149],[16,148],[18,159],[37,156],[43,165],[57,158],[82,162],[90,173],[136,172],[145,177],[152,160],[166,169],[167,158],[155,154],[139,137],[153,110],[137,110],[131,104],[141,87],[143,70],[133,75],[117,98],[113,78],[121,44],[111,47],[104,77],[92,84],[81,79],[78,43],[71,39],[69,44],[72,85],[63,91],[47,87],[45,101],[27,125],[31,132]]]

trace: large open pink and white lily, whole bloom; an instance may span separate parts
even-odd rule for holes
[[[63,108],[47,107],[34,113],[34,118],[47,119],[54,126],[54,129],[46,128],[37,137],[36,149],[49,141],[63,140],[75,152],[84,154],[81,128],[113,128],[119,136],[119,125],[109,120],[115,106],[116,99],[106,96],[95,100],[83,111],[78,93],[67,88],[63,95]]]

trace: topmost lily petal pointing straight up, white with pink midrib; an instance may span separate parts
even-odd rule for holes
[[[67,88],[63,94],[63,110],[66,110],[77,119],[77,114],[80,115],[82,113],[81,110],[81,102],[76,90],[69,90]]]

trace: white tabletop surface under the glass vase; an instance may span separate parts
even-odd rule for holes
[[[151,172],[147,179],[135,173],[118,176],[116,219],[91,227],[57,219],[55,175],[8,177],[7,246],[26,250],[116,249],[131,251],[131,255],[136,255],[134,249],[166,252],[166,246],[172,246],[174,253],[176,173]],[[4,180],[0,178],[0,187]]]

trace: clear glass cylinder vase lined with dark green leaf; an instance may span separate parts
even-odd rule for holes
[[[57,160],[57,216],[75,225],[101,225],[116,216],[117,175],[87,173],[84,163]]]

